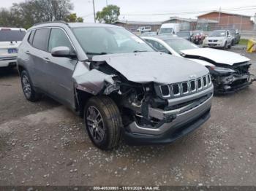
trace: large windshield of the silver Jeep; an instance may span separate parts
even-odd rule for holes
[[[87,55],[154,51],[146,42],[124,28],[73,28],[75,37]]]

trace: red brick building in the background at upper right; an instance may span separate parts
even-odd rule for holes
[[[254,22],[251,16],[239,15],[227,12],[213,11],[197,16],[199,20],[215,20],[217,21],[214,29],[236,28],[238,30],[253,30]],[[214,26],[214,25],[212,25]],[[212,27],[211,26],[211,27]]]

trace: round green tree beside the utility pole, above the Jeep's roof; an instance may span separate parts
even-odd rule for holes
[[[104,7],[102,11],[97,12],[96,19],[99,23],[103,21],[105,23],[113,23],[118,20],[118,16],[120,15],[120,8],[116,5],[110,4],[107,7]]]

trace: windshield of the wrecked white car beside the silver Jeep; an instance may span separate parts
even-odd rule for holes
[[[178,54],[181,54],[181,50],[189,50],[189,49],[195,49],[198,48],[197,45],[193,44],[192,42],[189,42],[185,39],[169,39],[165,40],[165,42]]]

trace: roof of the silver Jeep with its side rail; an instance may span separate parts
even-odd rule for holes
[[[51,27],[51,26],[68,26],[69,28],[80,28],[80,27],[109,27],[109,28],[122,28],[120,26],[101,24],[101,23],[66,23],[64,21],[54,21],[47,23],[38,23],[29,29]]]

